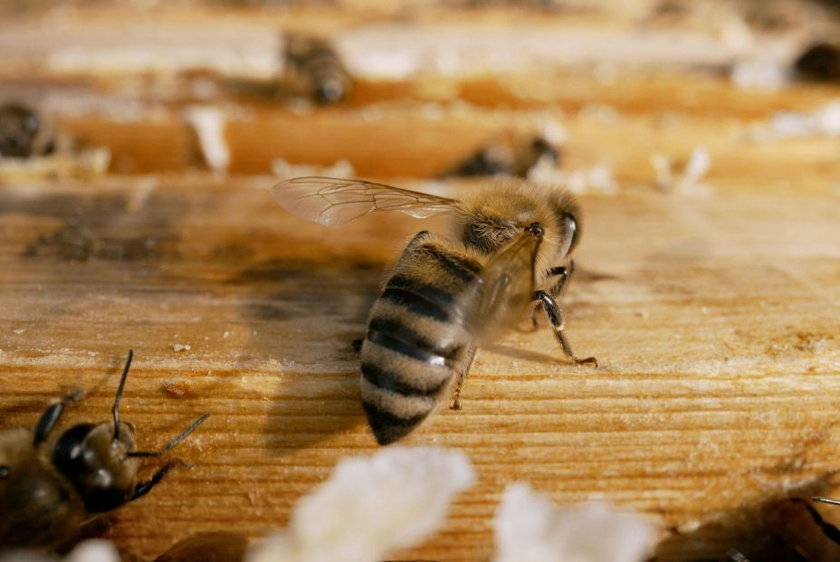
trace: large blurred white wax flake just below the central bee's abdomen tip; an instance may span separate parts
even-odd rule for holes
[[[246,562],[376,562],[444,523],[453,496],[474,481],[463,452],[391,447],[339,462],[295,507],[288,529]]]

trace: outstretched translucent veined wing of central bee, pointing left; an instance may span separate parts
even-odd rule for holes
[[[463,212],[456,199],[361,179],[294,177],[273,186],[272,195],[290,213],[325,226],[341,226],[378,211],[399,211],[417,218]]]

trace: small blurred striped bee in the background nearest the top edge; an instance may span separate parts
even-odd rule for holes
[[[324,39],[289,33],[282,57],[286,80],[306,97],[319,103],[334,103],[353,91],[353,80],[339,53]]]

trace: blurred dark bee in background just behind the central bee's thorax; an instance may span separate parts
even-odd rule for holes
[[[557,165],[560,154],[539,135],[511,136],[479,148],[469,157],[444,172],[441,177],[506,176],[526,177],[541,158]]]

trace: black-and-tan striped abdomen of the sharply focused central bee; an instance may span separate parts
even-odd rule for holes
[[[480,263],[419,233],[370,311],[361,398],[379,444],[411,432],[463,367],[472,340],[454,303]]]

